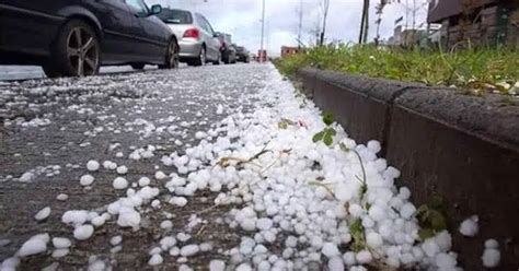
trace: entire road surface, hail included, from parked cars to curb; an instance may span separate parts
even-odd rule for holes
[[[272,64],[1,82],[0,269],[460,270],[321,115]]]

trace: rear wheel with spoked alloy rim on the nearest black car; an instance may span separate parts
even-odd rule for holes
[[[50,76],[97,74],[101,46],[95,31],[81,20],[70,20],[59,31],[50,47],[54,63],[45,66]]]

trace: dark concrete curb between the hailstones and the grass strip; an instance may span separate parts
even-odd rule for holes
[[[379,140],[401,169],[416,204],[439,195],[451,221],[454,250],[465,270],[484,270],[483,243],[496,238],[499,270],[519,268],[519,106],[503,96],[301,69],[302,92],[330,111],[358,142]],[[458,225],[480,216],[480,233]]]

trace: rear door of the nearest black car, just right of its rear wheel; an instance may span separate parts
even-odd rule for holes
[[[125,62],[134,54],[131,44],[132,19],[124,0],[85,1],[103,26],[103,63]]]

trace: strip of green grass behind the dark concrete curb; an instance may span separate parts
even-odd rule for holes
[[[503,94],[508,94],[519,81],[519,51],[507,48],[443,52],[339,45],[308,49],[305,54],[278,59],[275,64],[286,75],[293,75],[303,67],[314,67]]]

